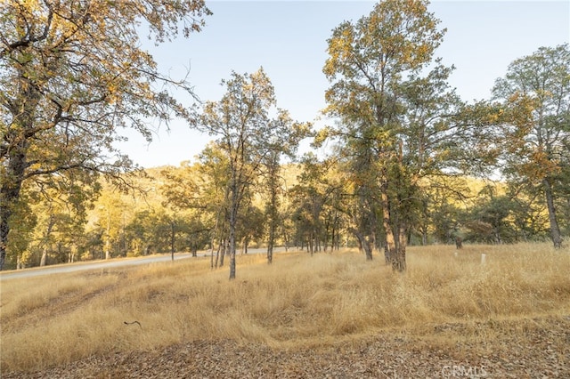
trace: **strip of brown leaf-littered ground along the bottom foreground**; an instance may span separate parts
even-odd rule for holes
[[[435,326],[319,349],[193,341],[90,357],[12,378],[569,378],[570,317]],[[460,335],[468,335],[461,338]],[[485,341],[477,335],[493,335]],[[457,336],[457,342],[452,338]],[[446,343],[437,343],[442,339]],[[477,340],[479,338],[479,340]]]

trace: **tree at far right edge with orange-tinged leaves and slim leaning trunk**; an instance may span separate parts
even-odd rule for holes
[[[560,248],[555,204],[557,192],[570,186],[570,45],[541,47],[514,60],[493,94],[505,109],[503,173],[511,183],[542,191],[550,238]]]

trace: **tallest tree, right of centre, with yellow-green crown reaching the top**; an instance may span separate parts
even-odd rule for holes
[[[325,112],[340,120],[336,133],[352,158],[353,181],[359,196],[381,207],[387,256],[400,271],[406,268],[419,178],[435,161],[428,157],[452,148],[456,132],[446,118],[458,106],[446,85],[450,69],[436,61],[428,77],[421,77],[444,36],[427,8],[425,0],[386,0],[369,16],[343,22],[328,40],[323,69],[331,83]],[[361,214],[373,221],[374,207],[361,203],[371,210]]]

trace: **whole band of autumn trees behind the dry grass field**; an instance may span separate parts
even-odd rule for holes
[[[314,131],[277,106],[262,68],[232,72],[219,101],[168,91],[193,95],[136,47],[136,24],[157,43],[181,23],[190,36],[210,14],[201,1],[0,7],[0,267],[209,248],[235,278],[237,248],[255,243],[270,263],[277,245],[354,245],[403,271],[410,244],[560,248],[570,233],[568,44],[514,60],[492,99],[468,103],[436,57],[445,30],[428,2],[381,1],[332,31],[330,125]],[[140,179],[113,141],[124,127],[151,140],[171,117],[213,140],[196,162]],[[328,156],[297,157],[306,138]],[[160,200],[134,207],[120,190]]]

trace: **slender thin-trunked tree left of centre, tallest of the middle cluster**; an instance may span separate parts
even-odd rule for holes
[[[253,74],[232,72],[223,80],[226,93],[220,101],[207,101],[196,109],[196,127],[217,137],[228,159],[228,239],[230,279],[235,278],[236,227],[240,204],[268,155],[273,141],[288,141],[304,125],[293,123],[287,112],[276,109],[275,93],[263,69]],[[274,112],[276,117],[271,117]]]

